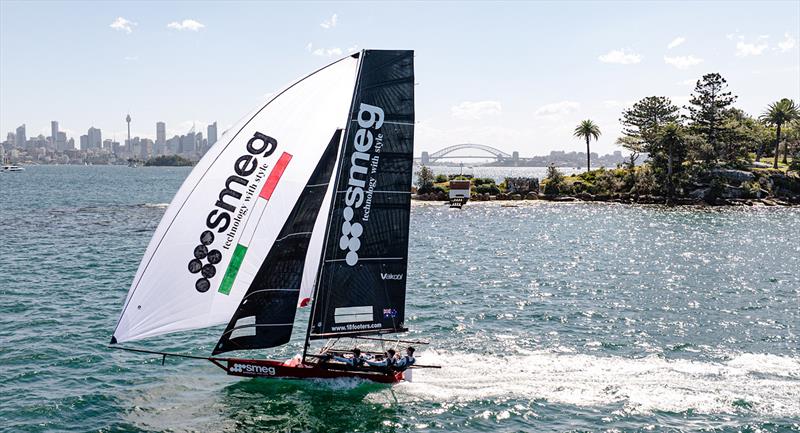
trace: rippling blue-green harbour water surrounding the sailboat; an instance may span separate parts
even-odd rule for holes
[[[412,383],[106,347],[189,168],[0,174],[0,430],[800,431],[800,209],[415,203]],[[276,350],[297,353],[305,330]],[[222,327],[137,347],[207,355]]]

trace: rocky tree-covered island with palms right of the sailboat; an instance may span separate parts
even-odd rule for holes
[[[800,109],[784,98],[754,117],[736,108],[736,99],[717,73],[697,81],[683,114],[667,97],[643,98],[621,114],[617,143],[629,151],[625,164],[573,176],[551,166],[541,183],[476,178],[472,199],[800,204]],[[587,119],[574,135],[589,155],[591,139],[600,134]],[[416,197],[445,200],[451,178],[421,167]]]

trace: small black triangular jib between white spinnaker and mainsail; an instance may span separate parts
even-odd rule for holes
[[[289,342],[311,232],[336,165],[340,139],[341,130],[337,130],[215,346],[214,355]]]

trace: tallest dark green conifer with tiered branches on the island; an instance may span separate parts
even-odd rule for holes
[[[714,163],[723,156],[722,140],[726,129],[730,127],[725,121],[728,111],[736,101],[736,96],[727,91],[728,82],[722,75],[713,73],[703,75],[694,88],[689,106],[689,127],[709,144],[708,152],[702,157],[706,162]]]

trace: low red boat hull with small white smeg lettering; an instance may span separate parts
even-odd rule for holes
[[[353,371],[330,366],[323,368],[297,362],[272,361],[268,359],[227,358],[224,363],[215,362],[231,376],[265,377],[286,379],[335,379],[352,377],[379,383],[397,383],[403,380],[402,372]]]

